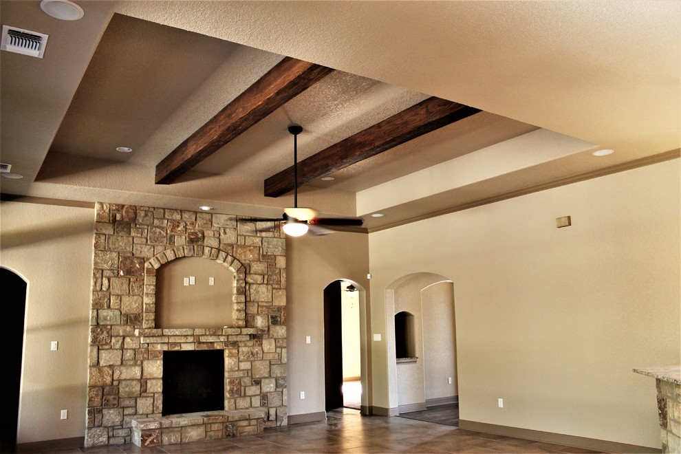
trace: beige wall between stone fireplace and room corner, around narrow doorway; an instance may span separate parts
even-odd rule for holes
[[[349,279],[360,289],[360,329],[367,333],[365,301],[369,300],[367,235],[334,233],[286,239],[288,312],[288,413],[306,415],[324,411],[324,288],[337,279]],[[360,333],[361,334],[361,333]],[[310,336],[311,343],[305,343]],[[366,352],[365,335],[362,347]],[[367,369],[363,357],[362,368]],[[366,378],[366,377],[365,377]],[[363,380],[363,389],[367,382]],[[300,391],[305,391],[301,400]],[[366,405],[363,395],[363,405]],[[370,403],[369,403],[370,404]]]

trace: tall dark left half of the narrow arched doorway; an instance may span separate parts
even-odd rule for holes
[[[340,281],[324,289],[324,382],[326,411],[343,407],[343,329]]]

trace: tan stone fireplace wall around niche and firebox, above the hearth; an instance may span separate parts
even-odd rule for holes
[[[155,327],[156,270],[182,257],[235,272],[233,326]],[[225,409],[286,424],[285,263],[273,223],[98,203],[85,446],[130,443],[133,419],[161,415],[164,349],[224,349]]]

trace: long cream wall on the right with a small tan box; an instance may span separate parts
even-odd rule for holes
[[[374,332],[391,282],[441,274],[462,420],[659,447],[655,387],[631,369],[679,362],[679,176],[672,160],[369,235]]]

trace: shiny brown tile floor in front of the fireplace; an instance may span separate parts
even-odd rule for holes
[[[330,411],[326,421],[266,429],[262,435],[175,444],[71,449],[43,454],[162,453],[593,453],[580,448],[466,431],[407,418]]]

